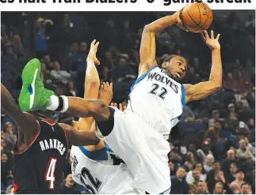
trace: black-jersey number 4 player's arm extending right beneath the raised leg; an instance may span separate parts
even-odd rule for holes
[[[59,123],[59,126],[61,126],[65,131],[69,144],[75,146],[96,145],[100,141],[100,139],[96,137],[95,132],[93,131],[78,131],[73,127],[63,123]]]

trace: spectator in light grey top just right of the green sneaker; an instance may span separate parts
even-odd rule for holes
[[[59,62],[54,62],[54,69],[51,71],[51,76],[54,79],[54,83],[62,83],[67,84],[67,82],[71,79],[71,74],[67,73],[66,70],[60,69]]]

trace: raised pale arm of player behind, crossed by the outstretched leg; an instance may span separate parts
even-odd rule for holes
[[[85,77],[85,92],[84,98],[87,99],[97,99],[100,87],[100,78],[97,73],[95,64],[100,65],[100,62],[97,60],[97,47],[99,42],[96,43],[96,40],[90,43],[90,51],[86,59],[86,77]],[[94,118],[79,118],[77,125],[78,129],[89,129],[93,124]]]

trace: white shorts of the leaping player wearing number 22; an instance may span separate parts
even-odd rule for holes
[[[128,166],[134,178],[133,187],[149,193],[168,191],[170,189],[168,142],[132,111],[122,112],[117,108],[111,110],[113,113],[110,114],[109,120],[96,121],[97,127],[104,136],[105,142]]]

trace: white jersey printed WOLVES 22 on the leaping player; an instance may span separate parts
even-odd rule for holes
[[[155,66],[131,87],[128,110],[168,139],[185,106],[185,89]]]

